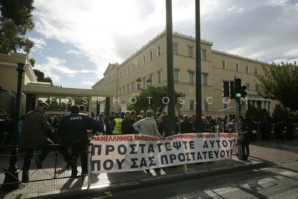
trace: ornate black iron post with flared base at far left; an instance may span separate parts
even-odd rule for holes
[[[5,172],[5,178],[3,185],[1,186],[1,190],[11,190],[19,187],[19,173],[20,170],[16,167],[17,157],[17,139],[18,139],[18,125],[19,125],[19,114],[20,114],[20,101],[21,101],[21,86],[22,86],[22,78],[24,70],[24,63],[17,63],[18,68],[16,71],[19,73],[18,75],[18,85],[16,92],[16,109],[15,109],[15,121],[13,128],[13,139],[12,139],[12,148],[11,148],[11,157],[9,158],[9,168]]]

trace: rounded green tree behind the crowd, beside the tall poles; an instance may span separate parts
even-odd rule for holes
[[[134,93],[133,95],[131,95],[132,97],[135,97],[137,99],[135,104],[131,104],[129,103],[129,110],[134,110],[137,113],[140,113],[140,111],[145,111],[150,109],[152,111],[154,111],[154,113],[157,112],[161,112],[168,102],[167,99],[164,99],[163,102],[163,98],[167,97],[167,86],[163,85],[163,86],[149,86],[147,87],[147,89],[145,91],[142,91],[140,94],[138,93]],[[182,93],[182,92],[177,92],[175,91],[175,103],[177,103],[177,97],[185,97],[186,94]],[[149,99],[147,97],[152,97],[150,98],[150,104],[149,104]],[[169,100],[173,100],[173,99],[169,99]],[[134,103],[134,99],[132,98],[131,101]]]

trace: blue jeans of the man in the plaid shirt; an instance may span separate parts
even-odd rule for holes
[[[49,154],[49,152],[52,149],[51,147],[47,147],[47,145],[49,144],[53,144],[53,142],[49,138],[47,138],[45,142],[43,142],[41,145],[38,146],[38,147],[44,147],[41,154],[37,156],[37,158],[39,158],[41,162],[43,162],[43,160],[46,159],[47,154]],[[35,148],[25,148],[25,150],[26,150],[26,155],[24,158],[23,173],[29,172],[31,161],[33,159],[32,154],[34,154]]]

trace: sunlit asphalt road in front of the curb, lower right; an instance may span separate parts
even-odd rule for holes
[[[298,162],[237,171],[84,199],[298,198]]]

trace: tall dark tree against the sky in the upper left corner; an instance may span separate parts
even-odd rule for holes
[[[34,0],[0,0],[0,53],[23,50],[30,53],[34,42],[25,37],[34,28]]]

